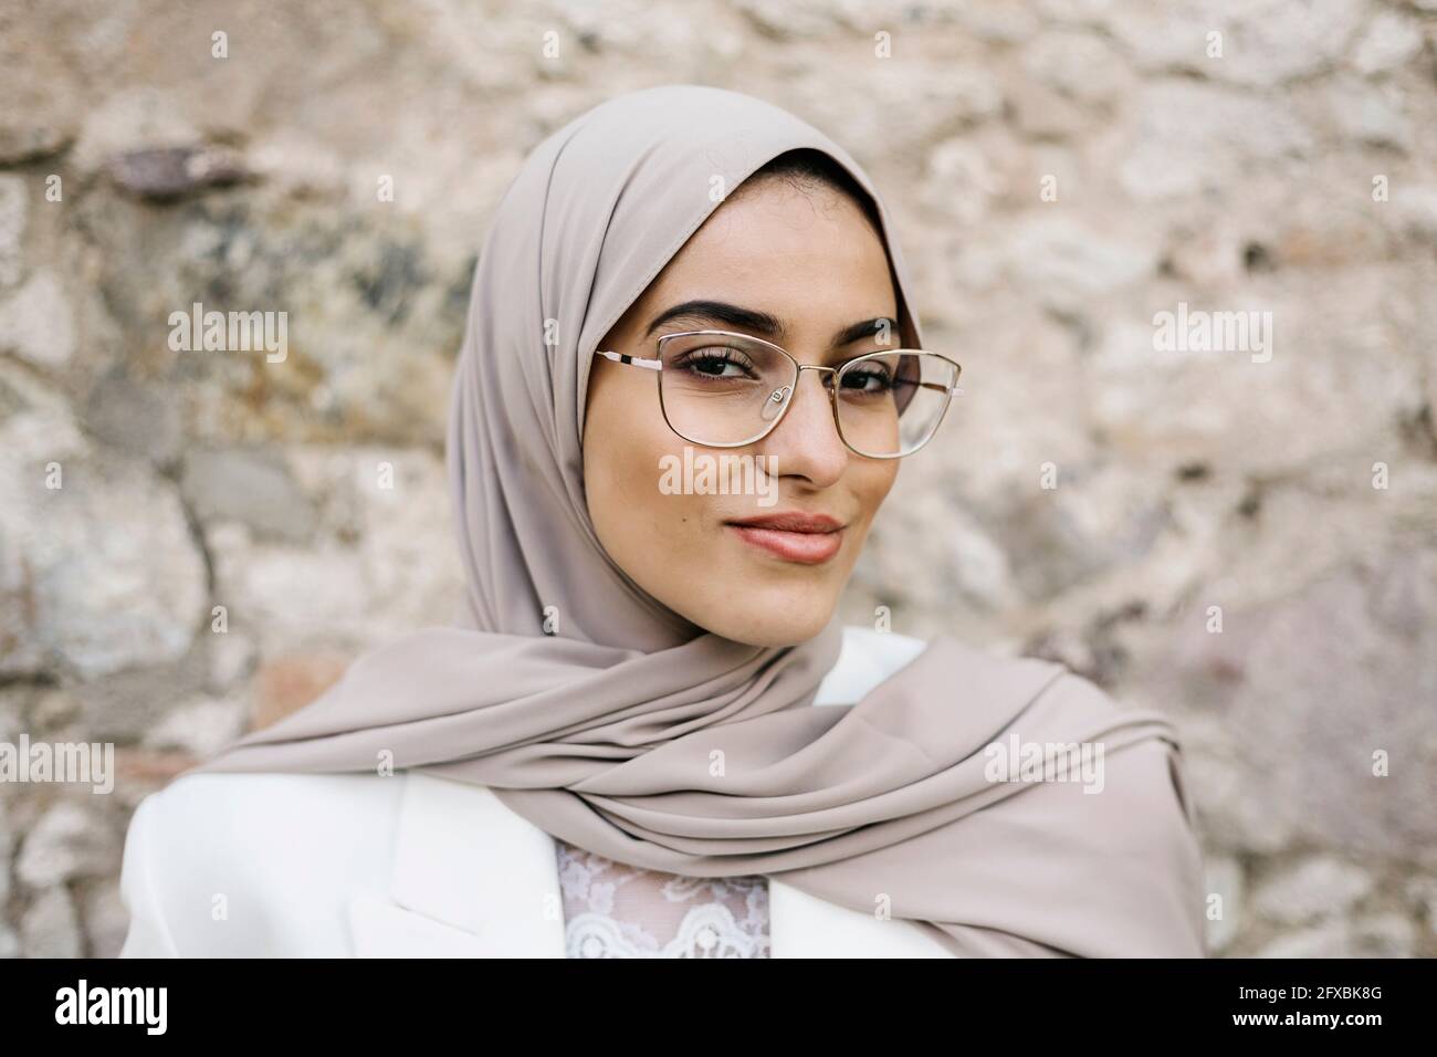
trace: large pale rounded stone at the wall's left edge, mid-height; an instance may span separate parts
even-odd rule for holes
[[[0,362],[0,674],[95,680],[190,650],[205,571],[174,486],[92,444],[63,395]]]

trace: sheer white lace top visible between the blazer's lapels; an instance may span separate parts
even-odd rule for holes
[[[683,877],[556,840],[569,958],[767,958],[766,877]]]

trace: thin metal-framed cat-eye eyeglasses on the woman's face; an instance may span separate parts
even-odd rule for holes
[[[668,429],[704,447],[744,447],[769,436],[803,371],[819,371],[844,444],[868,459],[901,459],[927,444],[958,391],[957,362],[938,352],[882,349],[838,367],[800,364],[777,345],[730,331],[658,339],[658,358],[598,349],[658,375]]]

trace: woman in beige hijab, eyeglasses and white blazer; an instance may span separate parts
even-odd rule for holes
[[[833,621],[956,381],[793,115],[665,86],[550,135],[456,378],[461,626],[148,797],[124,953],[1200,955],[1160,715]]]

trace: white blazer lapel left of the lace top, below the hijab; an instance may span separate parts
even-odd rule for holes
[[[553,838],[481,785],[404,774],[388,899],[349,903],[361,958],[563,958]]]

